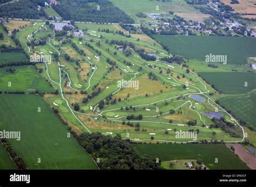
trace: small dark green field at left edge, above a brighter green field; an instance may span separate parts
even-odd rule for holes
[[[21,62],[21,61],[29,61],[26,58],[26,55],[22,52],[0,53],[0,64],[1,63],[10,63],[10,62]]]

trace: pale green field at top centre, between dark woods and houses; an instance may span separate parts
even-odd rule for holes
[[[188,5],[184,0],[172,0],[170,2],[150,1],[150,0],[111,0],[114,6],[123,10],[127,15],[134,19],[135,23],[143,23],[146,20],[151,20],[149,16],[147,18],[139,18],[135,14],[137,12],[144,13],[168,13],[173,11],[175,13],[198,13],[199,11],[192,6]],[[158,6],[158,10],[157,10]]]

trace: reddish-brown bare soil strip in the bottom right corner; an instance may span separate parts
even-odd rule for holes
[[[228,144],[227,146],[233,146],[235,148],[235,154],[247,164],[250,169],[256,169],[256,156],[248,152],[241,144]]]

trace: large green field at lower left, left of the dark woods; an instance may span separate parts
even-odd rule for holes
[[[0,95],[0,104],[0,128],[21,132],[10,143],[29,169],[97,169],[41,96]]]

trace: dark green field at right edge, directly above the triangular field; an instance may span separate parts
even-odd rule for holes
[[[199,75],[225,94],[247,93],[256,88],[255,73],[205,72]],[[245,82],[247,82],[247,87],[245,87]]]

